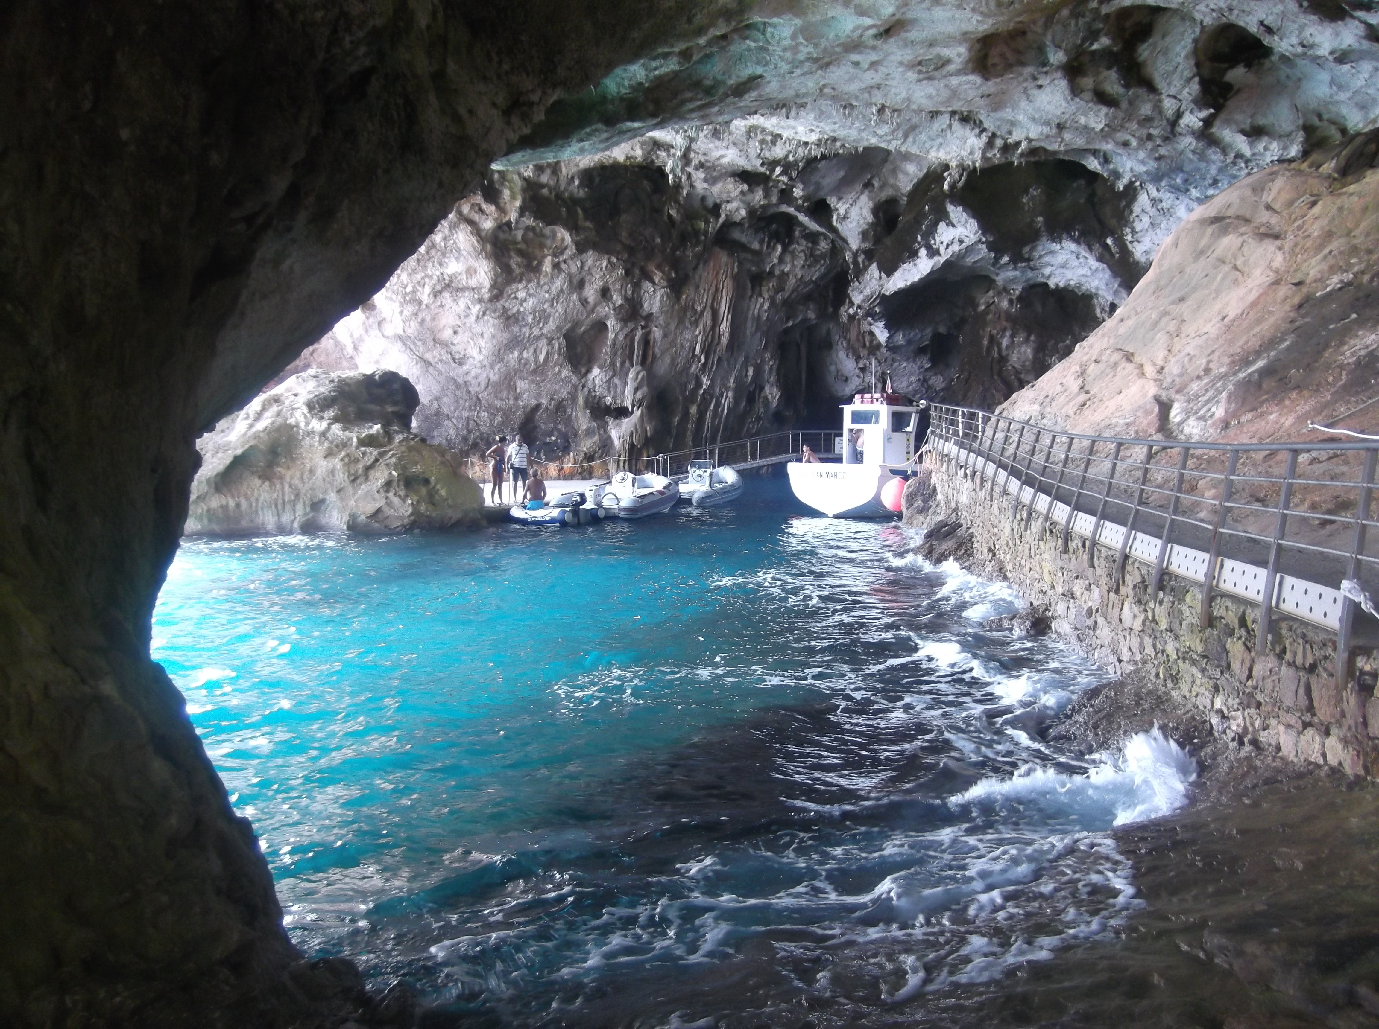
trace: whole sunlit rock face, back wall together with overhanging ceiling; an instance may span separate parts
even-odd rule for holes
[[[429,437],[521,428],[575,460],[832,424],[883,372],[994,406],[1110,317],[1200,202],[1368,127],[1367,18],[753,21],[557,102],[298,366],[397,368]]]

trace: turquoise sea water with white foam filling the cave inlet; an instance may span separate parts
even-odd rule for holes
[[[866,1025],[1114,941],[1158,733],[1004,585],[779,481],[644,522],[188,541],[153,656],[288,931],[502,1025]]]

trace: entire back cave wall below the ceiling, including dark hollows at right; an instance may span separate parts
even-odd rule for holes
[[[1138,278],[1132,194],[1074,161],[821,157],[732,125],[643,139],[492,172],[294,369],[397,368],[429,437],[473,452],[520,430],[546,459],[830,424],[873,369],[994,404]],[[953,219],[967,249],[907,266]],[[1031,270],[1022,248],[1087,267]],[[887,292],[878,269],[906,281]]]

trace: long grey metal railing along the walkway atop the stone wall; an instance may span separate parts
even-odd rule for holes
[[[1129,559],[1150,565],[1156,595],[1165,573],[1200,583],[1204,628],[1215,592],[1259,605],[1260,653],[1276,616],[1328,628],[1338,682],[1349,678],[1357,619],[1365,642],[1379,642],[1379,623],[1347,595],[1379,581],[1379,445],[1125,439],[947,405],[931,416],[927,453],[990,497],[1012,497],[1025,528],[1037,514],[1065,550],[1071,533],[1107,545],[1117,577]],[[1085,562],[1098,559],[1088,543]],[[1343,591],[1347,580],[1360,590]]]

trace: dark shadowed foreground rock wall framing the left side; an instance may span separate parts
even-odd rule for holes
[[[728,7],[728,6],[725,6]],[[0,1023],[359,1010],[149,660],[196,435],[561,90],[724,7],[0,6]]]

